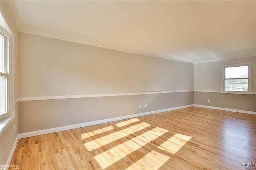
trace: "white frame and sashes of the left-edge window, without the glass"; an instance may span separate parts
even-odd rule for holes
[[[6,58],[7,58],[7,72],[0,73],[7,76],[7,100],[6,100],[6,113],[0,115],[0,136],[4,134],[5,130],[9,127],[15,118],[14,111],[14,34],[10,28],[6,15],[0,7],[0,34],[6,37]]]

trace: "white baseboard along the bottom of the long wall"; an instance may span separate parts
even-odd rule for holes
[[[103,120],[99,120],[99,121],[79,123],[79,124],[68,125],[68,126],[64,126],[64,127],[48,128],[48,129],[37,130],[37,131],[33,131],[33,132],[20,133],[20,134],[18,134],[18,138],[19,139],[20,138],[27,138],[27,137],[37,136],[37,135],[41,135],[41,134],[59,132],[59,131],[62,131],[62,130],[69,130],[69,129],[73,129],[73,128],[87,127],[87,126],[91,126],[91,125],[98,125],[98,124],[101,124],[101,123],[108,123],[108,122],[119,121],[119,120],[123,120],[123,119],[130,119],[130,118],[134,118],[134,117],[151,115],[151,114],[155,114],[155,113],[172,111],[172,110],[176,110],[176,109],[182,109],[182,108],[193,107],[193,106],[194,105],[186,105],[186,106],[180,106],[180,107],[173,107],[173,108],[169,108],[169,109],[162,109],[162,110],[157,110],[157,111],[138,113],[138,114],[134,114],[134,115],[126,115],[126,116],[121,116],[121,117],[114,117],[114,118],[110,118],[110,119],[103,119]]]

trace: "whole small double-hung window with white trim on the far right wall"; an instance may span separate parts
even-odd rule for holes
[[[252,94],[252,63],[222,65],[222,93]]]

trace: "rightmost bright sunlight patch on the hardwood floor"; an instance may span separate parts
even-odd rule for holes
[[[190,140],[192,137],[186,136],[184,134],[176,133],[174,136],[166,140],[164,143],[158,146],[158,149],[165,150],[171,154],[175,154]]]

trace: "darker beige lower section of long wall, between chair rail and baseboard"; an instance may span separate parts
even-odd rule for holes
[[[21,101],[19,130],[31,132],[193,103],[194,92]]]

